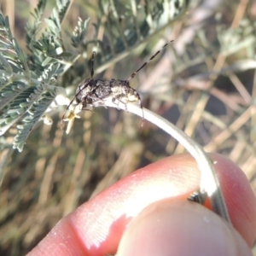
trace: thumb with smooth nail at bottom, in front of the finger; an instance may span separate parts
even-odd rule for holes
[[[125,230],[117,255],[247,256],[240,234],[206,207],[189,201],[158,201]]]

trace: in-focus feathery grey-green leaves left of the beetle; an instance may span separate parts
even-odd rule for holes
[[[40,23],[46,1],[38,2],[34,10],[33,20],[26,26],[26,46],[30,50],[25,55],[9,27],[8,17],[0,13],[0,135],[3,135],[16,122],[19,132],[15,137],[14,148],[22,150],[28,134],[37,124],[40,117],[55,99],[53,91],[65,95],[64,90],[55,90],[55,76],[63,69],[70,67],[77,54],[65,51],[61,39],[61,21],[63,20],[70,1],[57,1],[57,8],[52,10],[48,25],[40,32]],[[80,27],[80,37],[74,47],[82,44],[87,26]]]

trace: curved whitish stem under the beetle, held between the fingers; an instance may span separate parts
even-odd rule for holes
[[[112,102],[111,98],[106,99],[104,102],[106,104],[105,106],[121,108],[131,113],[135,113],[144,119],[147,119],[149,122],[160,127],[160,129],[166,131],[168,134],[174,137],[177,142],[181,143],[183,147],[186,148],[195,158],[199,170],[201,171],[201,193],[207,192],[207,195],[212,204],[212,210],[230,222],[229,213],[227,211],[227,207],[224,202],[224,196],[218,183],[218,177],[216,176],[216,172],[212,165],[212,160],[207,156],[203,148],[201,148],[198,143],[195,143],[193,139],[191,139],[183,131],[179,130],[177,126],[162,118],[160,115],[151,112],[147,108],[142,109],[139,105],[130,102],[127,104],[119,102],[117,105]]]

